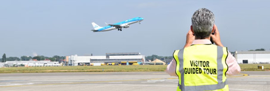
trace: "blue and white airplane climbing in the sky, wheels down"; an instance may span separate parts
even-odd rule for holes
[[[113,29],[118,29],[118,31],[122,31],[122,28],[129,28],[129,25],[130,24],[133,24],[133,23],[139,23],[141,24],[141,21],[143,21],[143,18],[141,17],[136,17],[136,18],[132,18],[132,19],[129,19],[129,20],[126,20],[126,21],[122,21],[122,22],[118,22],[118,23],[115,23],[115,24],[107,24],[108,26],[104,26],[104,27],[101,27],[99,25],[97,25],[96,23],[92,22],[92,25],[94,27],[95,30],[92,30],[93,32],[103,32],[103,31],[110,31],[110,30],[113,30]]]

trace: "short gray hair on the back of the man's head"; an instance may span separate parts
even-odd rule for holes
[[[196,10],[191,18],[192,28],[197,39],[205,39],[210,36],[215,17],[213,12],[206,8]]]

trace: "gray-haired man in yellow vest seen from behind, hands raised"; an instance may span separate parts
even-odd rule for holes
[[[178,76],[177,91],[228,91],[226,75],[235,75],[241,69],[220,41],[213,12],[196,10],[191,22],[184,48],[174,51],[166,72]]]

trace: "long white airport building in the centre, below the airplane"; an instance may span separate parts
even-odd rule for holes
[[[141,53],[106,53],[106,56],[78,56],[66,57],[68,65],[143,65],[145,56]]]

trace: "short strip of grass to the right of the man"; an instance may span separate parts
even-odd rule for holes
[[[270,70],[270,64],[239,64],[241,71],[269,71]],[[263,66],[262,69],[258,69],[258,65]]]

